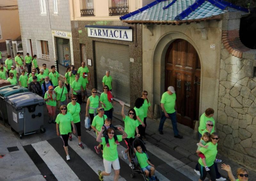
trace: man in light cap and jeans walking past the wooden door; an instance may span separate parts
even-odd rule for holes
[[[163,112],[162,112],[162,117],[159,123],[158,131],[159,131],[159,134],[164,134],[163,133],[164,122],[166,118],[170,118],[172,120],[174,137],[181,139],[183,138],[183,136],[179,135],[179,131],[177,128],[175,102],[176,102],[176,94],[175,94],[174,87],[169,86],[168,90],[162,95],[162,99],[161,99],[161,108]]]

